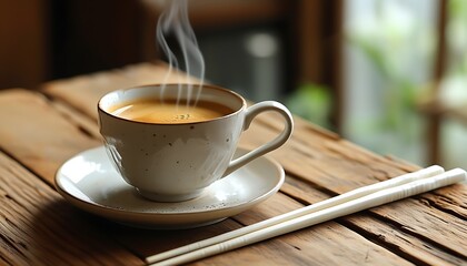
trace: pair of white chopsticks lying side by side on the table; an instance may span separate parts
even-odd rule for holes
[[[466,181],[461,168],[438,165],[364,186],[339,196],[146,258],[148,264],[178,265],[236,249],[337,217]]]

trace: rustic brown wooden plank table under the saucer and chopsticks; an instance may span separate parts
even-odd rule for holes
[[[54,190],[58,167],[101,145],[96,103],[106,92],[161,82],[143,63],[0,92],[0,265],[143,265],[146,256],[229,232],[419,168],[368,152],[296,117],[291,140],[270,154],[286,171],[279,193],[215,225],[183,231],[127,227],[82,212]],[[175,78],[175,76],[172,76]],[[261,115],[241,146],[280,130]],[[456,184],[360,212],[197,265],[467,265],[467,186]]]

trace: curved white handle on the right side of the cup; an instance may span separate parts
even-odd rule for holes
[[[279,146],[284,145],[284,143],[286,143],[287,140],[290,137],[290,135],[292,133],[292,130],[294,130],[292,115],[291,115],[290,111],[286,106],[284,106],[284,104],[281,104],[279,102],[275,102],[275,101],[259,102],[259,103],[256,103],[256,104],[249,106],[246,110],[246,114],[245,114],[244,131],[248,130],[248,127],[251,124],[251,121],[254,121],[254,119],[258,114],[260,114],[262,112],[267,112],[267,111],[277,112],[284,117],[285,127],[284,127],[282,132],[278,136],[276,136],[272,141],[268,142],[266,144],[262,144],[261,146],[248,152],[247,154],[245,154],[245,155],[242,155],[238,158],[235,158],[235,160],[230,161],[229,166],[227,167],[226,172],[223,173],[223,176],[227,176],[231,172],[240,168],[241,166],[251,162],[252,160],[278,149]]]

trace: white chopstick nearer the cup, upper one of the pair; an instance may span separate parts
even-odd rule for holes
[[[232,238],[236,238],[236,237],[249,234],[249,233],[254,233],[254,232],[267,228],[269,226],[272,226],[279,223],[284,223],[284,222],[287,222],[287,221],[290,221],[290,219],[294,219],[304,215],[308,215],[308,214],[311,214],[311,213],[315,213],[325,208],[336,206],[338,204],[342,204],[345,202],[349,202],[349,201],[379,192],[381,190],[386,190],[386,188],[399,186],[403,184],[407,184],[409,182],[414,182],[417,180],[435,176],[435,175],[441,174],[443,172],[444,172],[443,167],[438,165],[434,165],[427,168],[419,170],[414,173],[404,174],[398,177],[394,177],[384,182],[379,182],[372,185],[368,185],[365,187],[350,191],[339,196],[262,221],[260,223],[257,223],[250,226],[242,227],[240,229],[236,229],[236,231],[232,231],[232,232],[229,232],[229,233],[216,236],[216,237],[211,237],[211,238],[200,241],[200,242],[187,245],[187,246],[182,246],[179,248],[175,248],[165,253],[160,253],[160,254],[147,257],[146,262],[150,264],[150,263],[161,262],[171,257],[180,256],[186,253],[191,253],[193,250],[208,247],[211,245],[216,245],[219,243],[223,243],[229,239],[232,239]]]

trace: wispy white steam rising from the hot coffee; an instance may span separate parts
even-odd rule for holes
[[[178,82],[179,88],[177,101],[180,100],[182,93],[187,93],[187,105],[190,105],[191,102],[193,105],[196,105],[201,90],[198,90],[198,93],[192,95],[192,86],[195,85],[192,84],[191,76],[200,79],[201,82],[199,86],[202,86],[205,79],[205,60],[202,58],[201,51],[198,48],[198,41],[196,40],[195,32],[188,19],[187,0],[169,1],[168,8],[159,18],[156,29],[156,37],[157,42],[159,43],[170,64],[163,84],[167,83],[167,80],[172,73],[173,69],[180,69],[180,66],[183,66],[182,69],[187,72],[187,80],[189,85],[181,86],[181,82]],[[176,53],[169,47],[167,42],[168,37],[175,38],[175,42],[177,45],[179,45],[182,54],[181,60],[176,57]],[[183,90],[183,88],[186,88],[186,90]]]

